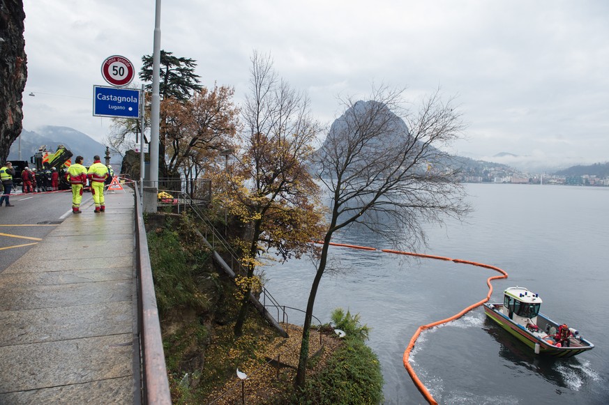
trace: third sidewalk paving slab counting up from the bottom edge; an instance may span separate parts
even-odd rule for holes
[[[0,346],[119,335],[132,332],[133,305],[130,301],[119,301],[3,311],[0,312],[0,325],[3,329]]]

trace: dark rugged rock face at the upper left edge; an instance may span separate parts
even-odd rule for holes
[[[23,36],[25,13],[22,0],[0,2],[0,162],[19,137],[23,120],[23,90],[27,56]]]

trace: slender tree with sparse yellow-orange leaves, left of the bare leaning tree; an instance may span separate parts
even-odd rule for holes
[[[257,286],[258,257],[274,250],[281,259],[315,251],[323,213],[319,188],[308,171],[313,142],[321,131],[310,115],[304,93],[294,91],[273,70],[269,56],[251,59],[250,93],[242,110],[245,123],[239,173],[233,173],[225,204],[246,224],[243,263],[248,274],[234,333],[242,334],[248,310],[247,292]]]

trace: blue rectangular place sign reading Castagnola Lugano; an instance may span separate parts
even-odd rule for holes
[[[140,117],[140,90],[93,86],[93,116]]]

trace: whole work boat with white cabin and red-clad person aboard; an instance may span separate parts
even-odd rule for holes
[[[594,349],[594,344],[576,329],[539,312],[542,302],[539,294],[524,287],[510,287],[504,291],[503,303],[485,303],[484,312],[536,354],[567,358]]]

